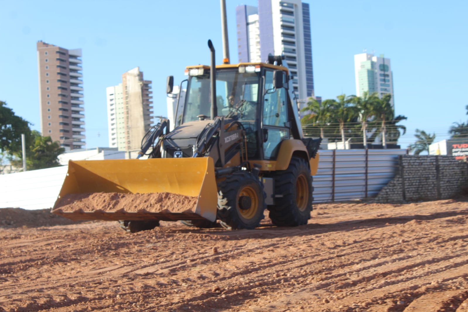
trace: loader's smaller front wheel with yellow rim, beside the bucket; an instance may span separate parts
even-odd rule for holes
[[[218,214],[232,229],[255,229],[266,208],[263,184],[250,172],[236,172],[218,185]]]

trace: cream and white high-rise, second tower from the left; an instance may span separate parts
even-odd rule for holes
[[[122,83],[107,87],[109,147],[137,150],[153,123],[151,80],[143,79],[139,67],[122,75]]]

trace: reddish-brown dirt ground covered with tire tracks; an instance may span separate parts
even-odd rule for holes
[[[0,209],[0,311],[468,312],[468,201],[317,204],[297,228],[126,233]]]

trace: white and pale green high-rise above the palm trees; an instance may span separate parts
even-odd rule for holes
[[[364,92],[369,94],[376,92],[381,98],[384,94],[393,98],[393,73],[390,59],[383,55],[376,57],[373,54],[361,53],[354,55],[354,75],[356,79],[356,95],[362,96]]]

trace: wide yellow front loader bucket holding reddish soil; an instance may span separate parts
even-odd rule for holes
[[[52,212],[72,220],[216,219],[211,157],[70,160]]]

